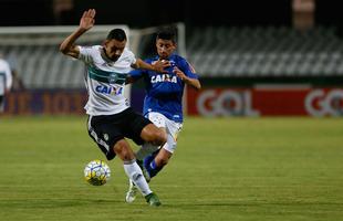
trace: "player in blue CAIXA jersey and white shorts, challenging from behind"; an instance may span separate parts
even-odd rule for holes
[[[177,136],[183,127],[183,95],[185,85],[200,90],[201,85],[193,66],[186,59],[176,54],[176,32],[174,28],[163,28],[156,36],[157,55],[145,60],[149,64],[157,61],[169,62],[167,73],[149,70],[134,70],[129,73],[127,83],[139,78],[145,82],[146,96],[143,114],[167,135],[163,146],[145,143],[136,152],[137,160],[144,160],[141,166],[146,172],[146,179],[155,177],[169,161],[176,149]],[[153,152],[153,154],[152,154]],[[126,202],[133,202],[136,187],[129,181]]]

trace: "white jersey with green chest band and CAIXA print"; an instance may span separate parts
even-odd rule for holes
[[[125,78],[136,63],[136,57],[128,49],[123,51],[121,57],[113,62],[106,59],[101,45],[80,46],[79,60],[85,65],[85,86],[89,101],[86,113],[92,116],[112,115],[128,107],[124,96]]]

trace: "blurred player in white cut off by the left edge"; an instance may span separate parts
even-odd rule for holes
[[[12,72],[9,63],[0,59],[0,113],[4,110],[4,96],[12,86]]]

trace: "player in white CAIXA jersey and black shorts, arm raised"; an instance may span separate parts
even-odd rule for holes
[[[61,43],[60,51],[86,65],[84,78],[89,93],[85,105],[89,135],[108,160],[116,155],[123,160],[127,177],[138,187],[148,204],[157,207],[160,201],[149,189],[125,138],[133,139],[137,145],[144,141],[162,145],[167,137],[152,122],[128,106],[124,97],[124,85],[132,67],[164,72],[169,64],[159,62],[152,65],[135,59],[125,48],[127,39],[122,29],[112,30],[103,45],[76,45],[75,41],[94,25],[94,9],[85,11],[79,28]]]

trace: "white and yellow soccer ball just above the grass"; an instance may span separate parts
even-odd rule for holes
[[[93,186],[105,185],[111,177],[108,165],[100,159],[90,161],[84,168],[85,180]]]

